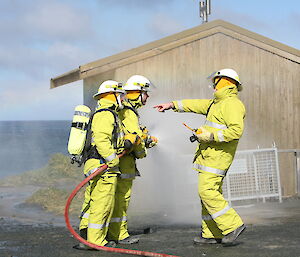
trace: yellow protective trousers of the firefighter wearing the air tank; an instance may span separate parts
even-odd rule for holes
[[[85,190],[79,229],[87,228],[87,241],[104,246],[113,214],[117,173],[106,172],[89,181]]]

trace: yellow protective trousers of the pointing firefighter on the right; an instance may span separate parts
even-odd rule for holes
[[[222,194],[224,176],[199,171],[198,193],[202,205],[202,237],[223,238],[243,225],[241,217]]]

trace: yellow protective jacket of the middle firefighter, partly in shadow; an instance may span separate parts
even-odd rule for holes
[[[143,132],[140,129],[139,116],[137,111],[128,102],[123,102],[124,108],[119,112],[119,117],[122,121],[125,134],[137,134],[140,138]],[[133,150],[123,156],[120,160],[121,178],[134,178],[137,173],[135,159],[144,158],[146,156],[146,147],[144,140],[137,146],[134,146]],[[127,175],[126,175],[127,174]]]

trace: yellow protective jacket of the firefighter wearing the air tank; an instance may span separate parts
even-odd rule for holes
[[[110,111],[97,112],[99,109],[110,109]],[[124,150],[124,132],[120,119],[118,118],[117,107],[114,102],[107,99],[100,99],[98,107],[92,120],[92,146],[96,146],[98,153],[104,158],[107,164],[112,163],[112,170],[119,172],[119,158]],[[103,161],[98,159],[89,159],[85,163],[84,172],[91,173],[93,170],[103,164]],[[112,165],[111,165],[112,166]],[[89,175],[89,174],[87,174]]]

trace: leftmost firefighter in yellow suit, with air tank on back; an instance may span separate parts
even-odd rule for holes
[[[80,220],[80,235],[87,241],[100,246],[114,246],[114,242],[106,240],[109,223],[113,214],[117,178],[120,175],[119,157],[124,150],[124,132],[118,112],[122,105],[121,83],[113,80],[103,82],[94,95],[98,100],[92,118],[91,148],[84,165],[87,177],[105,163],[107,171],[89,181],[85,191]],[[88,249],[79,244],[76,249]]]

